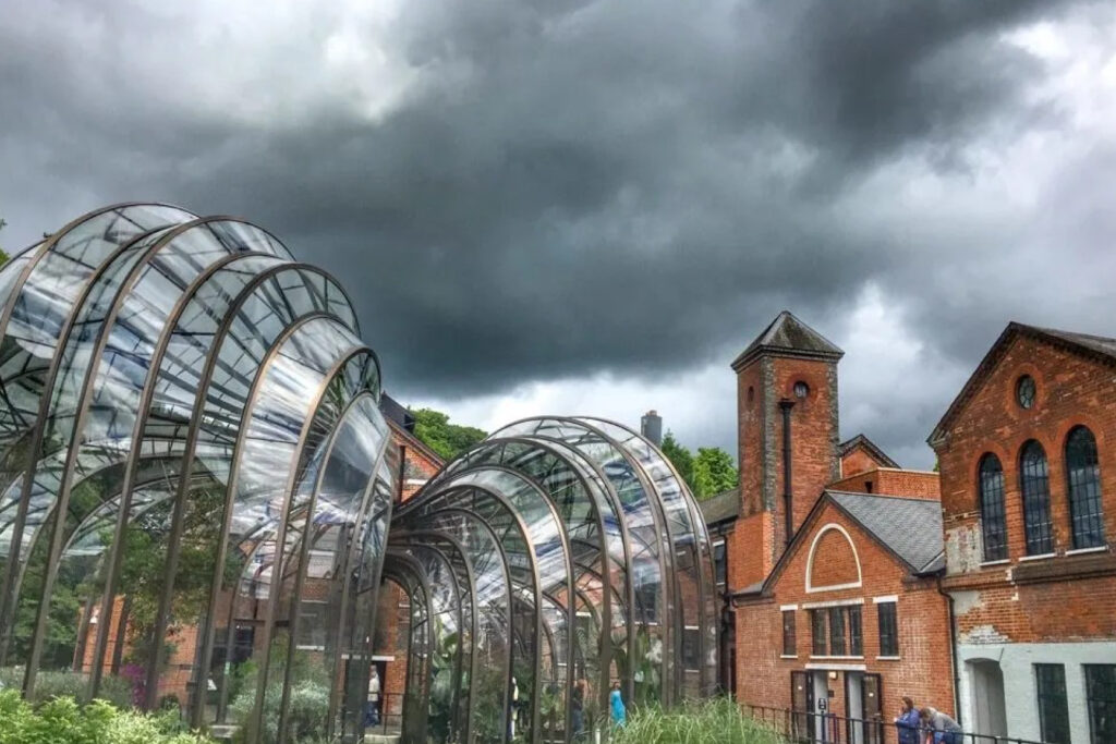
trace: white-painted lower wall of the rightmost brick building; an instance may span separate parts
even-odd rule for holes
[[[1066,699],[1069,704],[1069,732],[1072,744],[1089,744],[1089,709],[1085,697],[1084,664],[1116,664],[1116,641],[1081,644],[987,644],[958,646],[961,667],[961,725],[973,729],[975,703],[974,680],[970,665],[974,659],[999,661],[1003,671],[1004,706],[1008,714],[1008,736],[1041,741],[1035,664],[1062,664],[1066,667]]]

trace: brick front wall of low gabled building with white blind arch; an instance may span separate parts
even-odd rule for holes
[[[852,537],[859,558],[862,586],[831,591],[806,590],[806,570],[810,544],[828,524],[843,526]],[[820,666],[860,665],[868,674],[882,675],[884,719],[891,721],[901,695],[912,696],[920,705],[934,705],[953,712],[953,677],[950,649],[949,615],[945,599],[937,592],[933,580],[915,580],[906,569],[874,539],[860,531],[831,504],[822,506],[815,521],[806,528],[804,539],[795,544],[795,552],[777,577],[770,595],[743,602],[737,610],[737,689],[743,703],[780,708],[791,707],[790,673],[804,670],[807,664]],[[836,578],[850,576],[852,550],[829,535],[844,537],[828,530],[821,538],[815,562],[837,561],[843,569]],[[828,569],[826,569],[828,570]],[[844,581],[841,581],[844,583]],[[877,659],[879,632],[877,607],[874,597],[897,598],[899,659]],[[864,600],[864,658],[827,661],[810,658],[811,637],[807,609],[809,603]],[[738,600],[741,602],[742,600]],[[781,607],[796,605],[796,657],[782,658]],[[835,670],[837,678],[829,680],[835,692],[830,700],[835,713],[846,711],[845,676],[847,670]]]

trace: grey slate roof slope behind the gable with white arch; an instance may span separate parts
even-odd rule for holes
[[[932,572],[942,557],[942,504],[931,499],[827,491],[846,514],[898,555],[912,573]]]

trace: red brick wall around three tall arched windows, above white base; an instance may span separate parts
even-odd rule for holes
[[[1016,383],[1035,378],[1030,409],[1016,402]],[[1099,553],[1066,555],[1072,549],[1065,467],[1066,435],[1088,426],[1097,441],[1105,532],[1116,535],[1116,396],[1112,366],[1027,335],[1009,338],[999,361],[949,422],[936,452],[949,578],[956,597],[961,642],[1026,642],[1116,637],[1116,559]],[[1037,439],[1049,462],[1050,514],[1056,557],[1026,554],[1018,458]],[[977,473],[981,456],[994,453],[1004,471],[1008,561],[981,566],[982,538]]]

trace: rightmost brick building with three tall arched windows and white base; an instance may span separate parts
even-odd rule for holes
[[[1116,340],[1010,323],[930,437],[966,731],[1116,742]]]

